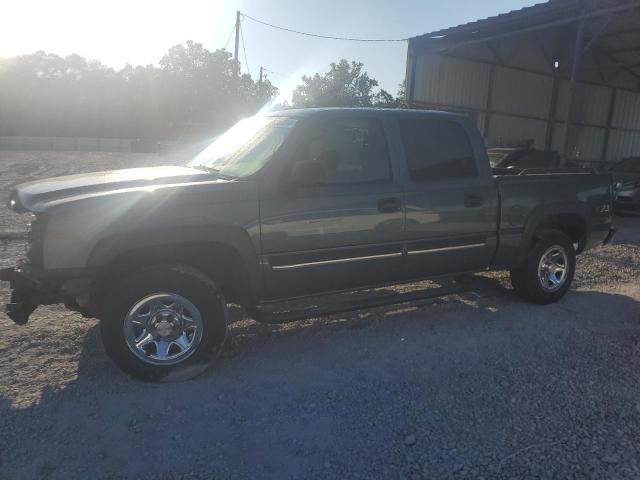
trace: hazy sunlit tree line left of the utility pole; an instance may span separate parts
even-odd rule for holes
[[[0,135],[178,137],[211,132],[251,114],[277,89],[249,75],[226,50],[188,41],[160,66],[114,71],[79,55],[36,52],[0,59]]]

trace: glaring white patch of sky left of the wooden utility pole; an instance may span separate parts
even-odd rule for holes
[[[187,39],[207,46],[212,31],[228,30],[229,2],[112,0],[8,1],[0,9],[0,56],[38,50],[78,53],[114,68],[157,63],[172,45]],[[226,35],[222,34],[221,35]]]

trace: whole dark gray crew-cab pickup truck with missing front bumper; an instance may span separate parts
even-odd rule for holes
[[[29,247],[0,278],[16,323],[64,303],[100,319],[125,372],[154,380],[221,345],[227,302],[261,320],[286,299],[489,269],[554,302],[576,254],[611,238],[612,194],[609,174],[492,171],[462,115],[272,112],[186,166],[15,187]]]

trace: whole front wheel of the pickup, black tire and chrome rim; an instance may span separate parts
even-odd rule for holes
[[[107,354],[125,373],[159,381],[201,364],[222,346],[226,304],[215,283],[186,265],[157,265],[125,277],[103,296]]]

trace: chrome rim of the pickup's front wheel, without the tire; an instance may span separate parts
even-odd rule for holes
[[[124,319],[129,349],[153,365],[175,365],[196,351],[202,317],[196,306],[175,293],[156,293],[138,301]]]

